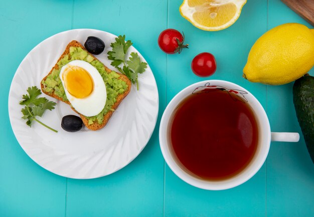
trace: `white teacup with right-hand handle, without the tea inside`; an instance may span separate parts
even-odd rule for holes
[[[255,114],[255,119],[258,124],[258,145],[257,150],[253,159],[250,163],[237,175],[232,176],[228,179],[219,181],[210,181],[201,179],[192,175],[190,172],[186,171],[181,162],[178,162],[178,158],[174,153],[169,139],[170,124],[169,121],[173,116],[174,110],[186,97],[190,96],[195,91],[201,91],[203,88],[215,88],[213,86],[218,86],[217,88],[224,88],[226,90],[237,90],[238,97],[247,101],[251,106]],[[270,146],[270,141],[285,141],[285,142],[297,142],[299,140],[298,133],[277,133],[271,132],[269,121],[267,115],[258,102],[258,100],[247,90],[239,85],[231,82],[222,80],[208,80],[202,81],[188,86],[187,88],[180,91],[168,104],[166,110],[164,111],[159,131],[160,146],[164,155],[164,158],[172,169],[172,171],[179,176],[182,180],[187,183],[194,185],[199,188],[208,190],[223,190],[238,186],[248,179],[250,179],[263,165]]]

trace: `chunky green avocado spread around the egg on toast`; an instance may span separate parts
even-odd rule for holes
[[[61,68],[73,60],[83,60],[94,66],[100,73],[102,79],[105,82],[107,89],[107,101],[103,110],[95,116],[86,117],[88,124],[93,124],[97,120],[99,124],[102,124],[103,117],[108,111],[113,111],[112,105],[116,102],[116,98],[119,94],[122,94],[127,89],[127,85],[121,79],[118,79],[120,75],[114,71],[107,73],[104,65],[98,60],[94,60],[92,56],[87,54],[82,48],[70,47],[69,54],[65,55],[57,64],[59,69],[54,69],[50,75],[47,76],[45,81],[42,81],[44,90],[48,93],[56,94],[61,97],[64,101],[68,101],[67,96],[64,92],[64,88],[59,77]]]

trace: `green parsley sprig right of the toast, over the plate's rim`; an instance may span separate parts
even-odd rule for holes
[[[112,51],[108,52],[108,59],[112,61],[111,66],[117,68],[119,72],[126,75],[133,84],[136,84],[138,90],[137,76],[138,73],[141,74],[145,72],[147,63],[142,62],[135,52],[132,52],[129,59],[125,61],[126,52],[132,44],[130,40],[125,41],[125,36],[119,36],[115,39],[115,42],[110,45]],[[122,67],[120,67],[121,64],[123,64]]]

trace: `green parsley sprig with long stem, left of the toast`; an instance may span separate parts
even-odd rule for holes
[[[51,111],[52,109],[54,109],[54,106],[57,103],[49,101],[45,97],[37,98],[39,95],[42,94],[42,92],[36,86],[29,87],[27,89],[27,92],[28,94],[23,95],[24,100],[20,102],[20,105],[25,105],[25,107],[21,111],[23,113],[22,118],[27,120],[26,124],[32,127],[32,122],[37,121],[41,125],[57,133],[57,130],[52,129],[51,127],[47,126],[36,118],[36,116],[43,116],[45,110],[48,109]]]

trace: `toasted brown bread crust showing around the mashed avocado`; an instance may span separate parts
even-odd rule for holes
[[[69,50],[70,50],[70,47],[80,47],[80,48],[82,48],[83,50],[86,51],[86,49],[85,49],[78,41],[72,41],[72,42],[70,42],[70,43],[67,45],[67,47],[65,48],[65,51],[63,52],[63,54],[61,55],[61,57],[58,59],[57,63],[58,63],[65,55],[67,55],[67,54],[70,53],[70,51],[69,51]],[[87,52],[87,51],[86,51],[86,52]],[[87,53],[88,53],[90,56],[92,56],[95,60],[98,60],[96,57],[94,57],[94,56],[93,56],[92,54],[90,54],[89,52],[87,52]],[[99,61],[99,60],[98,60],[98,61]],[[100,61],[99,61],[99,62],[100,62]],[[50,72],[48,73],[48,75],[50,75],[54,69],[57,69],[57,70],[59,69],[59,65],[58,65],[57,63],[56,63],[55,66],[50,70]],[[108,69],[106,66],[104,66],[104,67],[105,67],[105,71],[106,71],[108,74],[111,73],[111,70],[110,70],[110,69]],[[46,78],[47,78],[48,75],[46,75],[46,77],[43,78],[43,81],[46,80]],[[123,81],[126,83],[127,89],[124,91],[124,93],[119,94],[119,95],[117,96],[116,102],[115,102],[115,103],[112,105],[112,107],[111,107],[111,109],[112,109],[113,111],[119,106],[119,104],[121,103],[121,101],[124,99],[124,97],[126,97],[126,95],[127,95],[127,94],[130,92],[130,90],[131,90],[131,81],[130,81],[125,75],[123,75],[123,74],[121,74],[121,73],[119,73],[119,75],[120,75],[120,77],[119,77],[118,79],[121,79],[121,80],[123,80]],[[42,89],[43,93],[47,94],[48,96],[51,96],[51,97],[53,97],[53,98],[56,98],[56,99],[58,99],[58,100],[60,100],[60,101],[62,101],[62,102],[65,102],[65,103],[71,105],[71,103],[70,103],[69,101],[64,101],[61,97],[57,96],[54,92],[48,93],[48,92],[44,91],[44,85],[42,84],[42,82],[41,82],[41,89]],[[91,130],[99,130],[99,129],[103,128],[103,127],[108,123],[108,120],[110,119],[110,117],[111,117],[111,115],[112,115],[112,113],[113,113],[112,110],[108,111],[108,112],[104,115],[104,120],[103,120],[102,124],[99,124],[98,121],[94,121],[93,124],[90,124],[90,125],[89,125],[89,124],[88,124],[88,119],[87,119],[84,115],[82,115],[82,114],[80,114],[79,112],[77,112],[72,106],[71,106],[71,108],[72,108],[76,113],[78,113],[78,114],[81,116],[81,118],[82,118],[83,123],[85,124],[85,126],[86,126],[88,129],[91,129]]]

